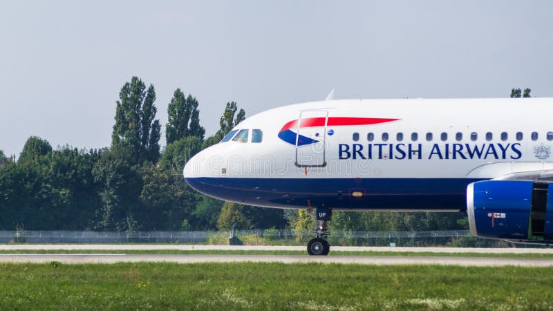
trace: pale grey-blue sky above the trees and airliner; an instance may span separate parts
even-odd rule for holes
[[[553,97],[553,1],[3,1],[0,149],[30,135],[109,147],[133,75],[176,88],[207,134],[247,115],[336,98]],[[553,107],[552,107],[553,108]],[[165,145],[165,137],[160,144]]]

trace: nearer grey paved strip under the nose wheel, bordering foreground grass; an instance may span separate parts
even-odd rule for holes
[[[550,258],[440,256],[287,256],[287,255],[156,255],[156,254],[1,254],[0,263],[341,263],[361,265],[461,265],[550,267]]]

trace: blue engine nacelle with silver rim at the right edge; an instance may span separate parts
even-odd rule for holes
[[[553,240],[553,184],[485,180],[467,187],[472,234],[482,238]]]

